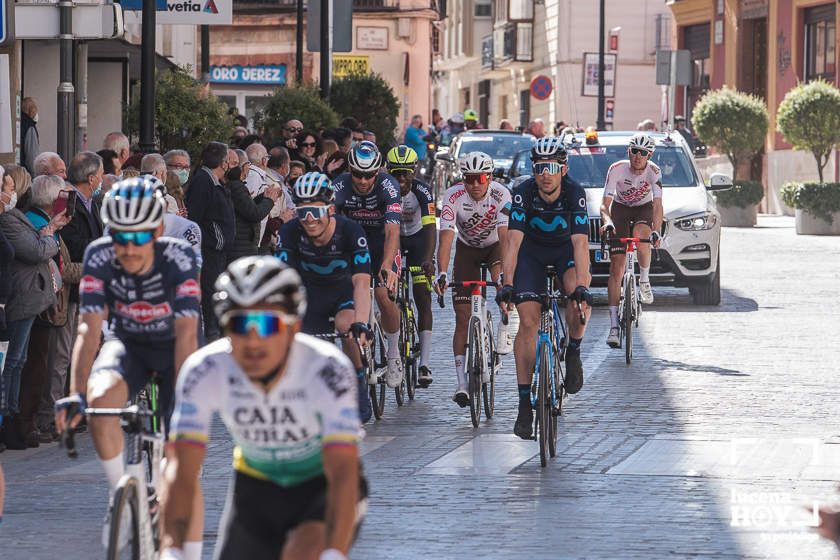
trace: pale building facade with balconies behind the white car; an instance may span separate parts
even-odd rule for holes
[[[490,128],[501,119],[524,127],[535,118],[549,126],[594,125],[597,96],[590,94],[597,74],[591,65],[584,69],[584,53],[598,52],[598,17],[597,2],[452,0],[439,24],[433,106],[444,117],[475,109]],[[667,6],[662,0],[610,0],[605,20],[617,42],[607,46],[616,57],[614,73],[609,60],[605,73],[608,80],[614,75],[609,126],[659,122],[663,92],[655,61],[671,38]]]

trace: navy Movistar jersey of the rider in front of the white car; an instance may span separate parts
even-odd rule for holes
[[[563,177],[560,196],[548,203],[539,195],[537,182],[528,179],[513,189],[509,228],[525,233],[525,239],[545,246],[569,243],[574,234],[589,235],[586,191]]]

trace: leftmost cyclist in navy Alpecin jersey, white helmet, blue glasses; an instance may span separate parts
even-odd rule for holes
[[[95,408],[125,406],[154,373],[164,424],[169,424],[176,372],[197,347],[201,290],[190,244],[161,237],[165,210],[161,191],[150,178],[120,181],[105,195],[102,221],[110,236],[94,241],[85,252],[71,395],[56,402],[58,431],[68,424],[75,427],[87,402]],[[111,334],[100,350],[106,319]],[[113,492],[124,474],[120,421],[96,417],[89,424]],[[200,499],[194,506],[203,511]],[[196,515],[188,529],[190,560],[201,556],[202,524]],[[107,538],[106,522],[106,546]]]

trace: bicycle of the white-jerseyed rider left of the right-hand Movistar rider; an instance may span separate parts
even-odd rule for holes
[[[493,418],[496,399],[496,366],[498,355],[493,338],[493,317],[487,309],[487,286],[501,288],[497,282],[484,280],[487,266],[481,265],[481,280],[452,282],[449,287],[471,288],[470,322],[467,327],[467,393],[470,401],[470,419],[473,427],[478,427],[481,419],[481,404],[484,402],[484,415]],[[438,305],[444,307],[443,295],[438,296]],[[487,381],[485,381],[487,379]]]

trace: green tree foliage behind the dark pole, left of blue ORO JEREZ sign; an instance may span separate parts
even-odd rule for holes
[[[230,138],[233,120],[228,106],[188,72],[188,68],[157,72],[155,138],[161,152],[180,148],[195,160],[208,142]],[[139,90],[126,109],[124,129],[132,140],[139,137]]]

